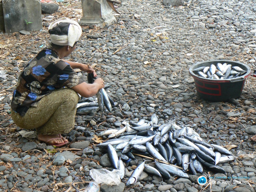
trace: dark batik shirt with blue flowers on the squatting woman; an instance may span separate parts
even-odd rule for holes
[[[30,106],[36,106],[53,90],[72,88],[82,82],[70,65],[59,59],[57,52],[44,49],[28,62],[20,74],[11,107],[24,116]]]

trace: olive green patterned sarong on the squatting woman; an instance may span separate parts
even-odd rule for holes
[[[22,117],[12,112],[14,123],[22,129],[36,129],[38,134],[69,133],[74,127],[79,96],[70,88],[52,91],[40,99],[37,107],[30,106]]]

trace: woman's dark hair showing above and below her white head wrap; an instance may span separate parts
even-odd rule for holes
[[[56,27],[49,29],[49,34],[52,35],[68,35],[68,28],[69,23],[59,23]],[[77,42],[74,43],[73,47],[77,44]],[[51,43],[51,46],[55,49],[61,49],[64,47],[63,45],[56,45],[54,43]]]

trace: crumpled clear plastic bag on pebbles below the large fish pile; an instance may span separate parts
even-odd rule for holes
[[[107,169],[91,169],[90,176],[98,185],[119,185],[121,183],[119,170],[117,169],[112,171]]]

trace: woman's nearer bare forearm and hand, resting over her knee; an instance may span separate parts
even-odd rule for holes
[[[94,83],[92,84],[82,82],[72,87],[71,89],[73,89],[83,97],[88,98],[95,95],[102,88],[104,88],[103,80],[101,78],[98,78],[98,79],[95,79]]]

